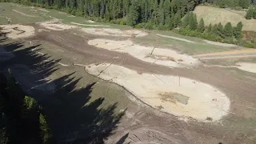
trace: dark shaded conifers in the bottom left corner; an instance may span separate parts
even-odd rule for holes
[[[0,143],[54,143],[41,106],[22,92],[11,73],[0,89]]]

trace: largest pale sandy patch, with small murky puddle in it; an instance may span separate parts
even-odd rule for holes
[[[143,102],[169,114],[186,116],[205,121],[219,120],[228,114],[230,100],[225,94],[206,83],[189,78],[159,74],[138,74],[123,66],[92,64],[86,70],[104,80],[124,86]],[[182,94],[188,102],[179,102]]]

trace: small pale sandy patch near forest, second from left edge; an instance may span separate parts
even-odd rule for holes
[[[46,29],[50,29],[50,30],[70,30],[72,28],[77,27],[77,26],[71,26],[71,25],[63,24],[57,18],[54,18],[54,19],[52,19],[50,21],[46,21],[46,22],[38,22],[38,24],[40,26],[43,26]]]

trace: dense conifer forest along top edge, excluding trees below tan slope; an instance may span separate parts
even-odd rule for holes
[[[172,29],[179,26],[181,18],[195,6],[208,2],[218,6],[248,8],[254,0],[1,0],[26,5],[43,6],[70,14],[142,27]]]

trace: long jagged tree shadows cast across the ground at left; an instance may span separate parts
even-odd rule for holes
[[[0,42],[2,41],[7,40],[2,38]],[[2,73],[8,69],[14,70],[14,78],[16,77],[22,90],[38,100],[58,143],[103,143],[116,129],[124,112],[114,113],[117,103],[102,106],[104,95],[91,100],[90,94],[97,82],[78,88],[78,82],[82,78],[76,78],[75,71],[54,80],[47,80],[47,77],[59,69],[60,59],[54,60],[50,55],[38,54],[35,48],[40,45],[26,47],[24,42],[12,42],[5,45],[0,43],[0,46],[15,55],[14,58],[1,62],[0,70]],[[40,89],[34,88],[35,86],[22,86],[27,83],[38,84]],[[48,93],[42,86],[50,83],[54,83],[54,89]]]

